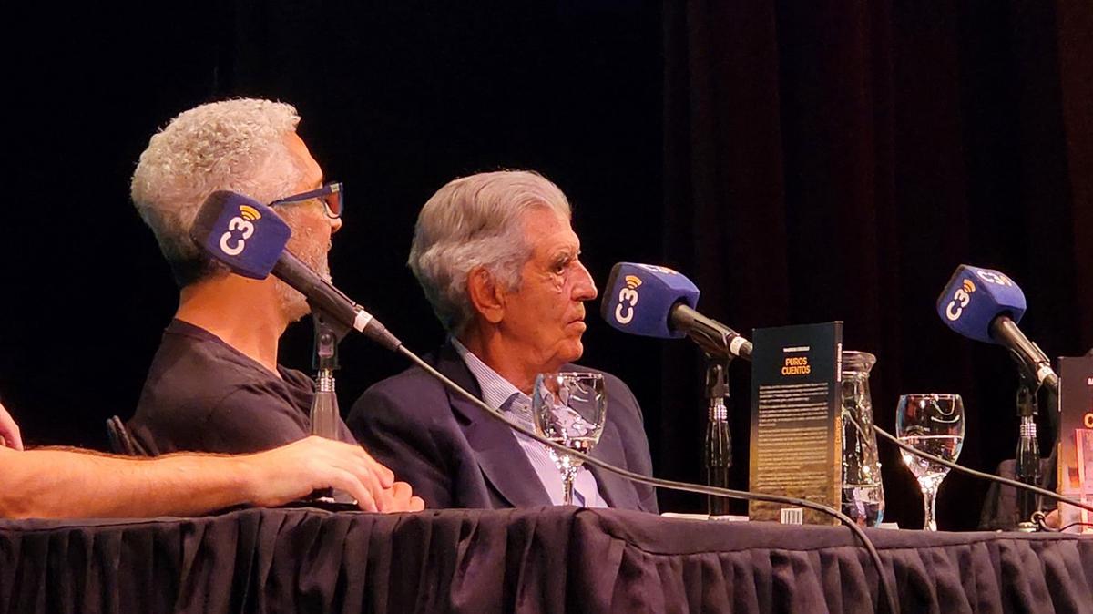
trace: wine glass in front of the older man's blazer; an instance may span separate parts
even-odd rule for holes
[[[588,453],[600,440],[608,412],[603,375],[596,373],[549,373],[536,376],[531,408],[536,433],[563,446]],[[580,459],[548,448],[562,473],[562,503],[573,505],[573,481]]]

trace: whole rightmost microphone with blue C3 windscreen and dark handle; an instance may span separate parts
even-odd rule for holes
[[[1025,376],[1037,386],[1059,391],[1051,362],[1018,328],[1025,312],[1024,293],[1004,274],[961,264],[938,297],[938,316],[957,333],[1008,349]]]

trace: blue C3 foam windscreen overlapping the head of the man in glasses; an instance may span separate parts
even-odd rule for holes
[[[242,194],[209,194],[190,228],[190,238],[233,273],[263,280],[273,270],[292,229],[272,209]]]

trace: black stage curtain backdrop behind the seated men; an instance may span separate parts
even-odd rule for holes
[[[1012,456],[1016,382],[933,314],[956,264],[1010,273],[1049,355],[1093,345],[1085,0],[303,4],[14,10],[0,392],[31,444],[104,449],[104,420],[132,413],[175,290],[128,178],[157,127],[236,95],[297,106],[348,186],[334,279],[419,352],[442,332],[404,265],[418,208],[502,167],[566,191],[600,283],[660,262],[741,331],[845,320],[847,347],[879,356],[882,426],[901,392],[963,394],[969,467]],[[657,473],[700,480],[697,351],[596,318],[586,340],[642,401]],[[297,324],[282,362],[307,369],[309,350]],[[342,363],[343,408],[404,366],[359,339]],[[732,385],[744,486],[745,364]],[[883,461],[889,519],[916,526],[914,482]],[[985,491],[950,476],[941,526],[974,527]]]

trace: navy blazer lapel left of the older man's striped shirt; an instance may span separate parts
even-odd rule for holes
[[[482,398],[478,381],[450,343],[440,349],[436,368]],[[550,495],[508,425],[451,390],[448,400],[486,482],[514,507],[550,505]]]

